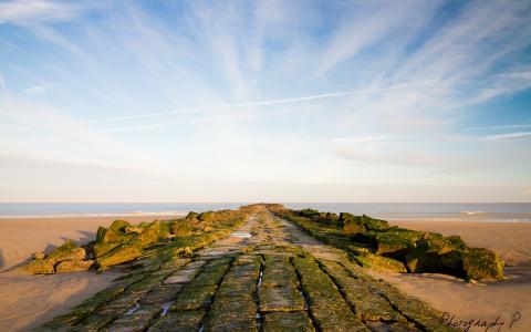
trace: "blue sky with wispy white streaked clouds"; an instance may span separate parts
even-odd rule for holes
[[[0,201],[531,201],[531,2],[0,1]]]

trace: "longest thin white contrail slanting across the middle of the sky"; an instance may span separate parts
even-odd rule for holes
[[[223,105],[216,105],[216,106],[191,107],[191,108],[183,108],[183,110],[176,110],[170,112],[145,113],[145,114],[124,115],[124,116],[107,117],[107,118],[86,120],[77,123],[91,124],[91,123],[102,123],[102,122],[117,122],[117,121],[124,121],[124,120],[166,116],[166,115],[183,114],[183,113],[198,113],[198,112],[205,112],[205,111],[219,111],[219,110],[244,108],[244,107],[252,107],[252,106],[270,106],[270,105],[280,105],[280,104],[304,103],[304,102],[310,102],[315,100],[333,98],[333,97],[340,97],[345,95],[366,94],[366,93],[388,91],[388,90],[404,87],[407,85],[412,85],[412,84],[400,83],[400,84],[378,87],[378,89],[332,92],[332,93],[323,93],[323,94],[283,98],[283,100],[257,101],[257,102],[244,102],[244,103],[231,103],[231,104],[223,104]]]

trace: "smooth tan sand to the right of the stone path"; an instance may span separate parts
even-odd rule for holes
[[[374,273],[442,312],[454,321],[485,320],[504,322],[499,331],[531,331],[531,224],[479,221],[392,221],[409,229],[459,235],[471,247],[498,252],[507,262],[506,280],[471,284],[436,273]],[[520,320],[512,328],[511,320]],[[461,325],[462,328],[462,325]],[[498,331],[500,325],[488,331]],[[470,331],[485,331],[472,328]]]

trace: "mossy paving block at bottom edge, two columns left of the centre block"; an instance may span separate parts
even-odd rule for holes
[[[148,332],[189,332],[198,331],[205,317],[205,310],[167,312],[155,321]]]

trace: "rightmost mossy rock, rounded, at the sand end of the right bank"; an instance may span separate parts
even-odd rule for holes
[[[470,279],[503,280],[503,261],[489,249],[470,248],[462,252],[462,269]]]

